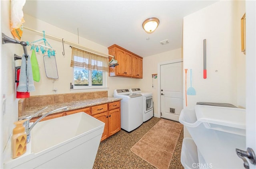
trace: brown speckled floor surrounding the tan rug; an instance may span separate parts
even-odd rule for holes
[[[130,149],[150,130],[160,118],[153,117],[139,128],[128,133],[124,130],[100,143],[94,169],[155,169],[153,165],[132,153]],[[168,169],[184,169],[180,163],[183,129]],[[156,157],[157,158],[157,157]],[[161,159],[159,159],[161,160]]]

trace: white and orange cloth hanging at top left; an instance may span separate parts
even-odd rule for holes
[[[23,18],[22,8],[26,0],[11,0],[10,2],[10,31],[14,37],[21,39],[23,33]]]

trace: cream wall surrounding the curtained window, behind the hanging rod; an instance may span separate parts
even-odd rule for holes
[[[55,27],[51,24],[48,24],[47,22],[38,20],[37,18],[34,18],[27,14],[24,14],[24,19],[26,21],[24,23],[24,26],[28,28],[32,28],[38,31],[44,30],[45,33],[48,35],[53,35],[55,37],[64,38],[68,41],[78,43],[78,36],[68,31],[65,31],[64,28],[62,29],[62,28]],[[35,41],[35,40],[41,39],[42,34],[24,29],[24,35],[22,38],[25,41]],[[70,48],[70,45],[64,44],[65,56],[63,56],[62,41],[58,41],[58,40],[56,41],[54,39],[47,38],[47,37],[46,39],[50,43],[50,45],[56,50],[56,63],[57,63],[59,79],[52,80],[46,77],[45,71],[44,71],[44,61],[43,61],[44,55],[40,52],[36,53],[39,68],[40,68],[41,80],[40,82],[34,82],[36,91],[31,92],[30,95],[38,96],[38,95],[53,94],[53,90],[52,90],[53,88],[58,89],[58,94],[74,92],[70,90],[70,83],[72,82],[72,78],[73,78],[72,67],[70,67],[71,51],[72,51]],[[82,37],[79,37],[79,44],[87,48],[100,51],[102,53],[108,53],[108,47],[99,45],[98,43],[95,43],[93,41],[90,41]],[[29,53],[31,53],[30,47],[28,47],[28,51]],[[107,88],[104,90],[108,90],[108,96],[113,96],[113,91],[115,89],[138,87],[139,81],[140,79],[107,76],[108,85],[107,85]],[[86,92],[86,91],[88,90],[76,90],[76,92]]]

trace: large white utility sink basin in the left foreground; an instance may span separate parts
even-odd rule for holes
[[[104,125],[84,112],[38,122],[24,155],[12,159],[9,140],[4,168],[92,168]]]

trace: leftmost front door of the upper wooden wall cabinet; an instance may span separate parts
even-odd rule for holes
[[[126,63],[125,63],[125,51],[116,48],[116,60],[118,61],[118,66],[116,66],[116,75],[125,76]]]

